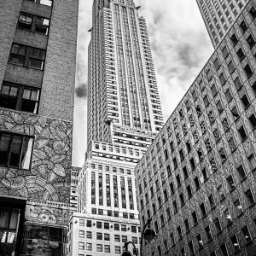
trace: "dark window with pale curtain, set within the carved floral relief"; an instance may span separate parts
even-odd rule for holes
[[[0,166],[29,170],[33,138],[0,131]]]

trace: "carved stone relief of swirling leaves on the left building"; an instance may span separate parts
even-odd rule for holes
[[[69,122],[0,110],[0,131],[34,137],[30,170],[0,167],[0,195],[69,203],[72,130]]]

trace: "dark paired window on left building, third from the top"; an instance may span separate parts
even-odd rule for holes
[[[44,69],[45,50],[13,44],[9,55],[9,63],[35,69]]]

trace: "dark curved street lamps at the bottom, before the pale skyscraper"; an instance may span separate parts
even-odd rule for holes
[[[143,256],[143,238],[145,239],[145,241],[147,241],[147,243],[151,243],[153,242],[155,239],[156,239],[156,235],[155,235],[155,232],[154,230],[152,230],[150,228],[150,223],[152,221],[152,218],[148,218],[148,221],[147,223],[144,225],[143,227],[143,233],[142,233],[142,237],[141,237],[141,247],[140,247],[140,256]],[[148,228],[148,229],[147,229]],[[134,249],[135,249],[135,252],[136,252],[136,255],[137,255],[137,249],[134,245],[134,243],[132,241],[128,241],[128,242],[125,242],[125,252],[122,253],[122,256],[132,256],[131,252],[128,251],[128,245],[129,244],[132,244]],[[139,255],[137,255],[139,256]]]

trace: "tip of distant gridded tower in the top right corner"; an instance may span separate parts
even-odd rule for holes
[[[201,15],[207,26],[214,49],[230,30],[238,15],[245,8],[248,0],[196,0]]]

